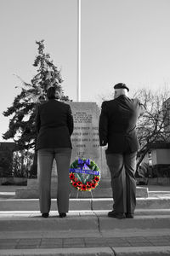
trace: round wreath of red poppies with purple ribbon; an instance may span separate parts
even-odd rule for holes
[[[79,191],[91,191],[99,184],[99,167],[92,160],[75,160],[70,166],[71,185]]]

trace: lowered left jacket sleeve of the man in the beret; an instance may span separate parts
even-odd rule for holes
[[[103,102],[99,116],[99,146],[105,146],[108,143],[108,114],[106,107],[106,102]]]

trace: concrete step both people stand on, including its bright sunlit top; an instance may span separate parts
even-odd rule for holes
[[[106,211],[73,211],[67,214],[66,218],[59,218],[57,212],[50,212],[49,218],[42,218],[39,212],[2,212],[0,214],[1,236],[10,232],[24,232],[26,236],[33,236],[31,232],[49,232],[58,231],[61,233],[72,233],[88,231],[102,233],[114,232],[120,233],[126,230],[165,230],[169,234],[170,212],[169,209],[161,212],[138,212],[134,218],[117,219],[108,218]],[[4,233],[5,232],[5,233]],[[11,233],[12,234],[12,233]],[[67,234],[68,236],[68,234]],[[2,237],[1,237],[2,238]],[[16,238],[16,234],[15,234]]]

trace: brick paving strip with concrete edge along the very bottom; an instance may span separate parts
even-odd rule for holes
[[[170,255],[169,235],[142,236],[135,232],[116,237],[110,233],[75,235],[0,239],[0,255]]]

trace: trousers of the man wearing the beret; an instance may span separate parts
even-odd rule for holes
[[[136,152],[132,154],[106,154],[111,172],[113,210],[132,213],[136,207]]]

